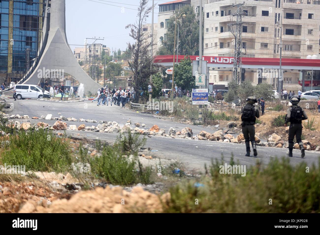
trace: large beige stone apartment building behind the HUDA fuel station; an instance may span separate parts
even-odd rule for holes
[[[235,27],[230,27],[236,17],[233,4],[245,3],[242,25],[242,52],[244,57],[279,58],[280,28],[276,22],[282,17],[282,58],[305,59],[319,54],[320,1],[311,0],[211,0],[204,5],[204,55],[234,56]],[[283,14],[281,11],[283,8]],[[245,79],[258,84],[256,70],[247,70]],[[299,89],[301,71],[284,71],[284,88]],[[210,71],[215,84],[227,85],[232,71]],[[276,86],[276,78],[262,77],[262,82]],[[300,87],[301,88],[301,87]]]

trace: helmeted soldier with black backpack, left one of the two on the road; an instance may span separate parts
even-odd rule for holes
[[[252,144],[253,155],[254,156],[258,155],[256,142],[255,142],[254,124],[256,122],[256,118],[260,117],[260,114],[259,114],[259,109],[253,105],[257,103],[257,99],[254,96],[248,97],[246,101],[247,101],[247,104],[242,108],[241,126],[242,126],[242,133],[245,139],[245,147],[247,151],[245,155],[250,157],[250,141]]]

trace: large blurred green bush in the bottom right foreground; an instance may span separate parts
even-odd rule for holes
[[[244,177],[220,174],[219,166],[224,162],[212,162],[208,170],[211,177],[170,188],[171,198],[164,202],[164,212],[319,213],[319,164],[306,173],[307,163],[292,165],[289,161],[271,159],[266,167],[257,162],[246,169]]]

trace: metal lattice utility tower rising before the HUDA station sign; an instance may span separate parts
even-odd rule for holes
[[[241,81],[241,68],[242,68],[242,38],[241,38],[241,33],[242,33],[242,16],[245,15],[246,13],[242,10],[242,6],[244,3],[240,4],[232,4],[232,6],[237,7],[237,11],[232,14],[232,16],[236,16],[237,20],[236,23],[231,23],[231,29],[233,29],[233,26],[236,25],[236,32],[234,35],[235,37],[235,54],[234,54],[234,61],[233,61],[233,80],[237,81],[238,84]],[[232,32],[232,30],[231,30]]]

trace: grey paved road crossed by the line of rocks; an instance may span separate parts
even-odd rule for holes
[[[94,119],[97,121],[117,121],[121,126],[126,123],[129,118],[134,122],[145,123],[147,128],[150,128],[154,124],[158,125],[160,128],[166,129],[170,128],[182,129],[186,127],[183,123],[177,123],[173,121],[158,119],[153,117],[151,114],[141,114],[135,113],[131,110],[123,109],[119,106],[97,106],[96,102],[91,103],[91,101],[75,102],[75,103],[60,103],[54,101],[42,101],[42,100],[19,100],[10,101],[14,102],[14,109],[12,114],[19,115],[29,115],[29,117],[41,115],[46,116],[47,114],[52,114],[53,117],[61,115],[65,117],[74,117],[76,119]],[[20,120],[21,121],[21,120]],[[37,122],[38,120],[31,120],[32,122]],[[53,125],[55,121],[45,120],[45,122]],[[68,122],[68,125],[75,124],[86,124],[84,122]],[[90,123],[91,124],[91,123]],[[97,125],[96,123],[93,123]],[[216,131],[210,128],[204,128],[199,126],[191,126],[194,134],[200,132],[204,129],[206,131]],[[77,134],[80,136],[77,136]],[[90,139],[95,139],[99,137],[100,140],[114,141],[118,134],[112,133],[100,133],[91,131],[67,131],[68,135],[73,135],[75,137],[86,137]],[[151,147],[153,155],[165,159],[177,159],[183,162],[188,169],[200,169],[203,170],[204,164],[210,164],[211,159],[224,156],[225,161],[229,161],[230,157],[233,155],[235,160],[239,160],[240,164],[252,165],[255,164],[257,159],[262,160],[264,164],[267,164],[270,159],[275,157],[285,156],[287,149],[282,148],[272,148],[272,147],[259,147],[258,146],[258,157],[246,157],[245,146],[240,144],[223,143],[223,142],[212,142],[212,141],[201,141],[201,140],[188,140],[180,138],[169,138],[161,136],[147,137],[146,147]],[[312,163],[318,163],[319,152],[307,151],[306,157],[300,158],[300,151],[293,150],[294,157],[291,159],[292,164],[298,164],[300,162],[307,162],[311,166]]]

